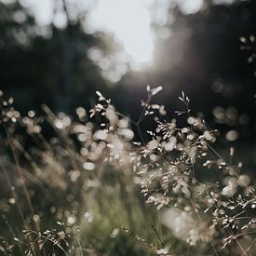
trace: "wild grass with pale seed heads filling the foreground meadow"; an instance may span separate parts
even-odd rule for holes
[[[254,254],[253,181],[183,92],[176,115],[153,103],[161,90],[138,120],[99,91],[74,116],[21,116],[1,94],[0,254]]]

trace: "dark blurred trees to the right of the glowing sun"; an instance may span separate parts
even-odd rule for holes
[[[163,101],[169,107],[175,106],[173,100],[184,90],[197,111],[207,114],[216,105],[234,105],[252,115],[255,65],[247,60],[253,48],[241,50],[239,38],[255,34],[255,11],[255,1],[209,4],[192,15],[172,10],[175,20],[167,26],[171,36],[158,40],[154,69],[129,73],[119,86],[134,94],[134,89],[143,91],[146,83],[163,85]]]

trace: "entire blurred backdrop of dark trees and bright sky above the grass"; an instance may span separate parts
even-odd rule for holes
[[[23,113],[73,113],[95,91],[128,115],[146,85],[169,114],[193,113],[253,144],[255,1],[0,0],[0,85]]]

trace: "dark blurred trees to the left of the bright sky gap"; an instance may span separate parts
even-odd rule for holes
[[[30,10],[19,1],[0,7],[0,83],[14,96],[22,110],[47,103],[56,111],[70,112],[108,82],[101,69],[88,58],[91,47],[107,53],[102,34],[88,34],[86,15],[71,17],[65,1],[61,10],[67,17],[64,27],[53,22],[40,28]],[[113,50],[113,49],[111,49]]]

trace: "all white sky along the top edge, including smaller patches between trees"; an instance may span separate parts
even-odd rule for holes
[[[53,22],[58,28],[65,27],[67,21],[65,14],[63,12],[53,14],[57,2],[20,1],[24,6],[31,8],[39,25],[44,26]],[[141,70],[153,65],[155,42],[151,21],[154,18],[156,22],[160,20],[160,23],[163,23],[164,20],[165,23],[168,0],[162,0],[160,3],[156,0],[66,0],[66,3],[74,5],[71,8],[74,13],[89,10],[86,17],[88,33],[103,31],[113,34],[115,40],[128,54],[126,59],[133,70]],[[173,0],[173,4],[178,5],[184,14],[190,14],[203,6],[203,0]],[[76,9],[75,6],[79,8]]]

